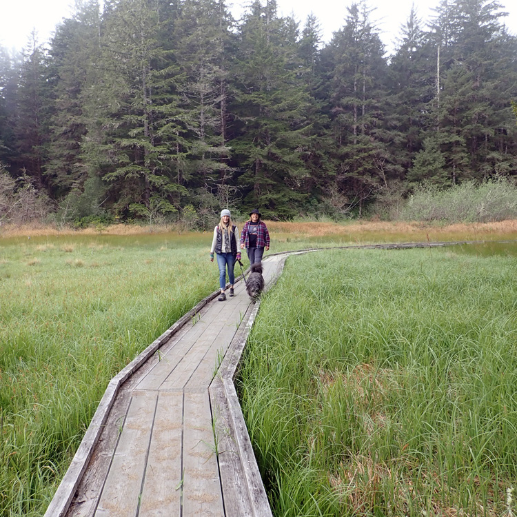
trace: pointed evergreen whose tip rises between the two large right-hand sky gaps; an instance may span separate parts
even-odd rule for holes
[[[387,145],[383,44],[364,0],[347,9],[345,26],[331,42],[330,102],[339,161],[335,188],[361,216],[365,201],[387,187],[388,175],[397,168]]]

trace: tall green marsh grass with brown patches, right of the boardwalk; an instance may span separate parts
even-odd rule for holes
[[[507,514],[517,483],[508,247],[288,259],[239,379],[274,515]]]

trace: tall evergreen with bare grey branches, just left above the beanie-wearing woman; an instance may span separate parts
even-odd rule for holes
[[[226,127],[232,23],[223,0],[185,0],[174,24],[175,62],[185,78],[180,87],[180,116],[187,129],[180,148],[182,178],[192,189],[216,189],[232,174]]]

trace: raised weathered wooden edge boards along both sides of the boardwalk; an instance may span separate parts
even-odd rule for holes
[[[487,241],[443,241],[443,242],[415,242],[415,243],[387,243],[387,244],[372,244],[372,245],[347,245],[347,246],[337,246],[337,247],[325,247],[325,248],[307,248],[305,250],[292,250],[292,251],[284,251],[278,253],[270,253],[267,254],[265,259],[269,256],[281,256],[285,255],[285,258],[281,260],[278,265],[278,270],[272,278],[270,285],[274,285],[276,280],[281,275],[283,271],[283,267],[285,265],[285,259],[287,256],[294,254],[305,254],[308,252],[316,252],[316,251],[325,251],[325,250],[350,250],[350,249],[407,249],[410,247],[438,247],[438,246],[447,246],[447,245],[459,245],[459,244],[481,244]],[[514,240],[509,241],[490,241],[490,242],[500,242],[500,243],[511,243],[516,242]],[[238,276],[236,278],[236,282],[240,281],[243,276]],[[268,286],[270,287],[270,286]],[[85,473],[86,468],[88,467],[88,463],[92,458],[92,454],[94,451],[94,447],[101,436],[101,432],[103,430],[103,426],[105,425],[106,420],[108,419],[108,414],[112,408],[116,395],[119,393],[121,386],[125,381],[136,372],[148,359],[158,350],[163,343],[168,341],[173,334],[178,332],[185,323],[190,321],[192,316],[197,314],[207,303],[214,300],[217,296],[219,296],[219,290],[212,292],[206,298],[203,298],[197,305],[195,305],[189,312],[187,312],[184,316],[179,318],[172,327],[166,330],[159,338],[156,338],[147,348],[141,352],[133,361],[131,361],[126,367],[124,367],[119,374],[114,376],[110,383],[108,383],[108,387],[105,390],[103,397],[97,407],[96,412],[92,418],[88,429],[83,436],[83,440],[81,440],[81,444],[77,449],[72,462],[70,463],[70,467],[68,467],[65,476],[61,480],[57,491],[54,494],[54,497],[50,501],[50,504],[45,511],[44,517],[64,517],[66,512],[68,511],[70,504],[72,502],[72,498],[77,491],[77,487],[81,482],[81,478]],[[225,354],[225,359],[223,363],[221,363],[221,367],[219,369],[219,383],[212,383],[210,386],[210,392],[212,394],[218,394],[219,398],[223,396],[227,403],[232,407],[232,419],[234,420],[233,425],[236,432],[239,432],[238,437],[238,446],[241,451],[241,460],[243,460],[243,467],[246,470],[246,477],[248,480],[253,481],[253,485],[248,487],[253,491],[252,500],[256,501],[258,505],[256,511],[257,516],[270,516],[271,510],[270,506],[267,503],[267,496],[265,495],[265,490],[263,488],[263,484],[259,474],[259,467],[256,464],[256,460],[254,458],[254,453],[252,449],[252,445],[250,442],[250,437],[247,433],[247,428],[244,423],[244,418],[241,412],[241,407],[239,405],[239,399],[236,395],[236,390],[233,384],[234,378],[236,377],[239,369],[239,363],[241,361],[241,356],[243,349],[245,347],[245,343],[247,341],[247,336],[250,334],[252,325],[254,323],[254,319],[256,318],[256,314],[259,312],[260,301],[255,303],[254,305],[250,305],[241,325],[239,326],[239,331],[236,336],[232,340],[229,349],[227,350],[227,354]],[[257,480],[256,476],[259,474],[259,479]],[[267,509],[266,509],[267,506]]]

